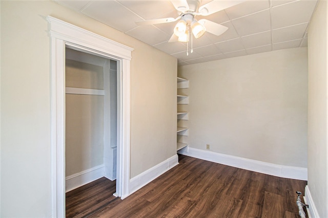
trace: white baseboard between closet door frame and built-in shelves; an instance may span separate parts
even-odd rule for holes
[[[130,179],[129,194],[132,194],[133,192],[139,190],[140,188],[144,187],[169,169],[178,165],[178,161],[178,156],[174,155],[171,158],[157,164],[156,166]]]

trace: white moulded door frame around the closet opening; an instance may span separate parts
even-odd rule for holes
[[[132,48],[48,16],[51,38],[51,164],[52,216],[65,217],[65,48],[117,60],[117,179],[116,195],[129,195],[130,184],[130,61]]]

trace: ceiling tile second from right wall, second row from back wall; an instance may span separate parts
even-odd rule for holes
[[[241,37],[245,49],[271,44],[271,31]]]

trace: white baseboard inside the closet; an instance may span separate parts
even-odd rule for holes
[[[65,178],[65,191],[71,191],[75,188],[88,184],[92,181],[104,177],[104,164],[92,167]]]

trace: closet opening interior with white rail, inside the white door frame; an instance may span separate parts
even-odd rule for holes
[[[117,61],[66,46],[65,191],[116,180]]]

